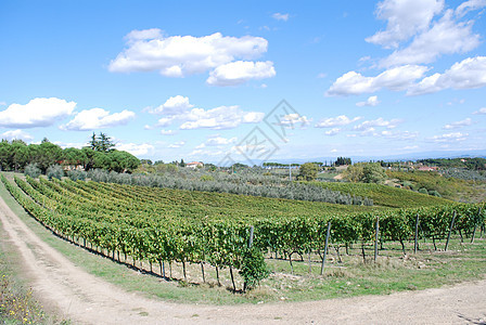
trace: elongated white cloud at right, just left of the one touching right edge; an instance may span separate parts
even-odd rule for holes
[[[394,91],[405,90],[417,79],[423,77],[427,67],[404,65],[387,69],[376,77],[364,77],[359,73],[349,72],[334,81],[325,95],[350,95],[375,92],[382,88]]]

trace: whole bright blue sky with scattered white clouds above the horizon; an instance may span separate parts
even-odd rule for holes
[[[486,0],[0,0],[0,138],[241,161],[486,150]]]

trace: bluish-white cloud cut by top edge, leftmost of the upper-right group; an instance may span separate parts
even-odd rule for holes
[[[376,5],[376,16],[387,21],[386,30],[366,39],[384,48],[396,48],[419,31],[425,30],[434,15],[442,12],[444,0],[385,0]]]

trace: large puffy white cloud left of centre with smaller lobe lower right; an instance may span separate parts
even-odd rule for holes
[[[240,84],[250,79],[274,76],[271,62],[245,62],[267,52],[261,37],[209,36],[165,37],[157,28],[132,30],[126,36],[127,48],[112,60],[113,73],[159,72],[166,77],[184,77],[210,70],[207,83]]]

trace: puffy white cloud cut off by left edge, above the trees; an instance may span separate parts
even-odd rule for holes
[[[75,106],[75,102],[66,102],[56,98],[34,99],[25,105],[11,104],[5,110],[0,112],[0,127],[49,127],[73,114]]]

